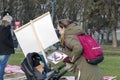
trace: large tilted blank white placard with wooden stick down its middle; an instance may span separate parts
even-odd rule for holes
[[[59,41],[49,12],[14,32],[25,56],[30,52],[42,52]],[[43,55],[45,54],[43,53]]]

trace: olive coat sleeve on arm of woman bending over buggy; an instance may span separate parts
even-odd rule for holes
[[[74,63],[78,58],[80,58],[83,51],[80,41],[76,36],[70,35],[65,38],[65,46],[71,49],[66,49],[65,53],[70,57],[70,61]]]

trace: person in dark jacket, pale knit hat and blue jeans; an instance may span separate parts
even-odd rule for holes
[[[14,44],[11,35],[12,17],[6,14],[0,24],[0,80],[4,80],[4,70],[9,57],[14,53]]]

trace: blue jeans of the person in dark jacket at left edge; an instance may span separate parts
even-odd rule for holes
[[[0,55],[0,80],[4,80],[4,70],[10,55]]]

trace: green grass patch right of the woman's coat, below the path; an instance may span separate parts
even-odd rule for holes
[[[104,76],[117,76],[120,80],[120,56],[105,56],[99,66]]]

